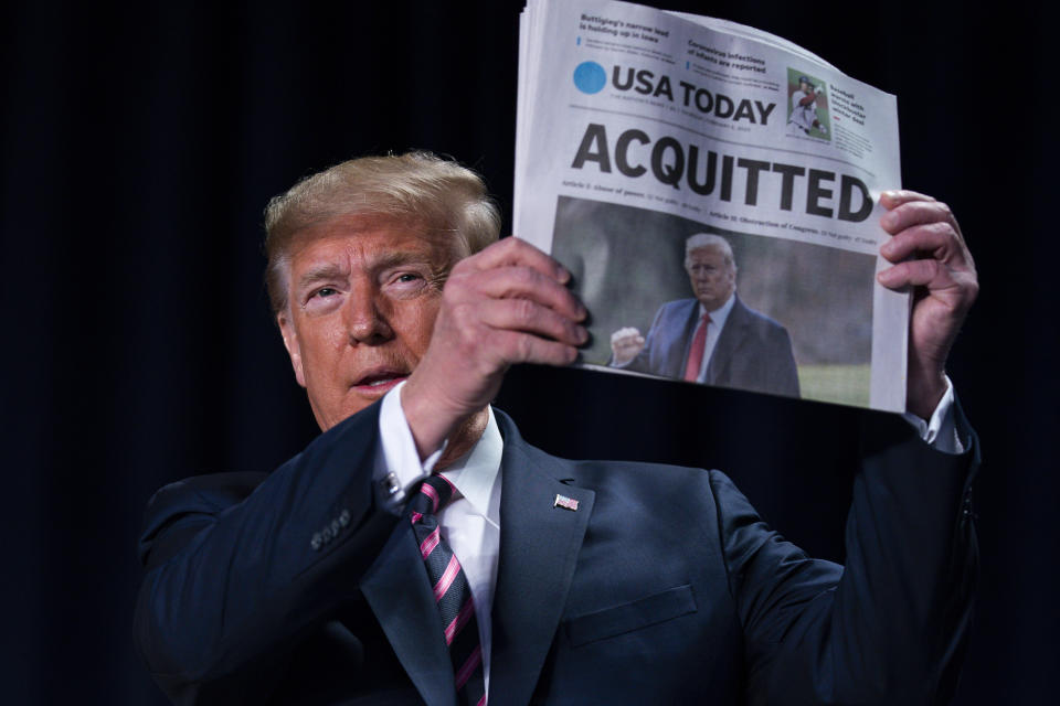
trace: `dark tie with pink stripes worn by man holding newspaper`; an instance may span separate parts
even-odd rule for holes
[[[457,703],[465,706],[485,706],[486,685],[483,677],[483,649],[478,641],[478,621],[475,601],[467,576],[453,549],[438,531],[439,509],[453,496],[453,485],[441,475],[423,481],[420,492],[409,501],[412,511],[412,532],[420,543],[420,555],[427,567],[427,577],[434,587],[434,599],[449,646],[453,675],[456,680]]]

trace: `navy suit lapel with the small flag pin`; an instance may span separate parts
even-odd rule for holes
[[[566,603],[595,496],[556,480],[570,469],[524,443],[502,413],[497,418],[505,453],[491,706],[530,700]],[[577,501],[577,510],[554,506],[556,495]]]

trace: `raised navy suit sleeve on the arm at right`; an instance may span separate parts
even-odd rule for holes
[[[900,418],[866,442],[846,568],[770,532],[716,474],[751,704],[942,704],[967,646],[977,549],[964,454],[931,449]]]

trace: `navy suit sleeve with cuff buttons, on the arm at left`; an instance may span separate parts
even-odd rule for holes
[[[201,477],[151,499],[135,631],[174,703],[263,702],[286,650],[356,589],[399,520],[372,483],[378,411],[321,435],[256,488],[253,474]]]

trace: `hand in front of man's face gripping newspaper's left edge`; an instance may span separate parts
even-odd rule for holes
[[[589,340],[586,311],[554,259],[515,237],[453,268],[431,344],[401,402],[421,458],[500,389],[512,363],[570,365]]]

